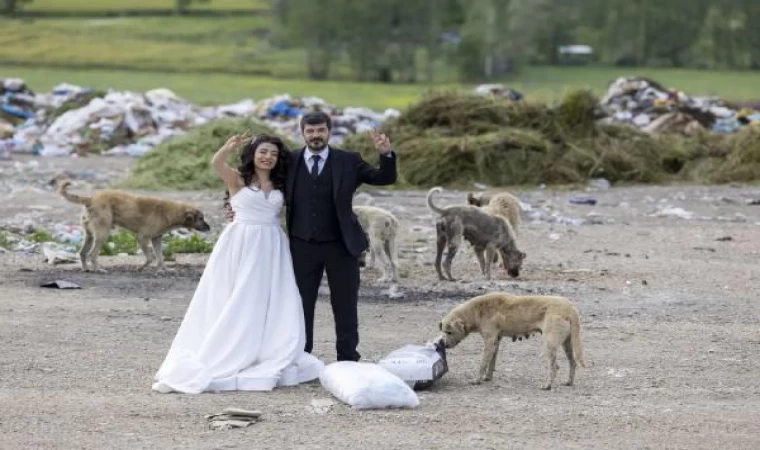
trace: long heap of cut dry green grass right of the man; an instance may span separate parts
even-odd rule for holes
[[[594,95],[583,90],[552,106],[434,93],[386,122],[383,132],[399,153],[402,186],[760,179],[758,128],[730,136],[650,135],[599,123],[597,108]],[[367,136],[351,136],[345,147],[376,158]]]

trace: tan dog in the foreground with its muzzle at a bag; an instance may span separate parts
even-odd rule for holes
[[[438,327],[443,332],[441,340],[446,348],[455,347],[473,332],[483,337],[483,360],[475,384],[493,378],[499,342],[505,336],[515,341],[523,337],[527,339],[531,333],[543,334],[549,358],[549,381],[543,389],[551,389],[557,376],[560,345],[570,364],[567,386],[572,386],[575,380],[576,363],[586,367],[580,317],[564,297],[514,296],[503,292],[480,295],[451,310]]]

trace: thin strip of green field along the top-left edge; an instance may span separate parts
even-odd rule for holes
[[[173,9],[173,0],[33,0],[23,6],[24,11],[130,11],[130,10],[169,10]],[[199,10],[251,10],[269,9],[267,0],[211,0],[208,3],[194,3],[190,9]]]

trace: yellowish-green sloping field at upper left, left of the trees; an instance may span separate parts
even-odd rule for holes
[[[266,16],[0,20],[0,64],[297,77],[303,52],[275,50]]]

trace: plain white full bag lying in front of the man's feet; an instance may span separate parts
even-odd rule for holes
[[[377,364],[339,361],[319,376],[328,392],[356,409],[416,408],[420,404],[403,380]]]

